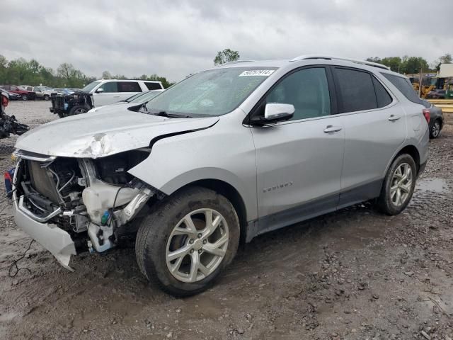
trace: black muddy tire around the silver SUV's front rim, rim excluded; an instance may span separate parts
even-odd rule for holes
[[[216,210],[228,225],[228,246],[224,258],[208,276],[193,283],[178,280],[166,263],[166,246],[173,228],[178,222],[197,209]],[[135,254],[140,270],[149,281],[166,293],[185,297],[201,293],[209,288],[224,268],[231,263],[239,246],[239,218],[233,205],[215,191],[190,187],[162,201],[141,222],[135,242]]]

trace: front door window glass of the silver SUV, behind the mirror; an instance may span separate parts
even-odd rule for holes
[[[280,81],[266,97],[266,103],[294,105],[292,120],[331,114],[326,69],[301,69]]]

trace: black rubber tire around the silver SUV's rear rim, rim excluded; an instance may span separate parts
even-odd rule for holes
[[[408,164],[411,167],[412,183],[410,193],[408,193],[408,197],[404,200],[403,204],[396,205],[391,200],[391,185],[396,170],[404,163]],[[410,154],[400,154],[398,157],[396,157],[394,162],[390,165],[389,170],[387,171],[384,183],[382,184],[381,194],[377,199],[377,208],[379,208],[379,210],[381,212],[384,212],[384,214],[386,215],[398,215],[400,212],[402,212],[411,201],[415,188],[415,179],[417,179],[417,167],[415,166],[413,158]]]

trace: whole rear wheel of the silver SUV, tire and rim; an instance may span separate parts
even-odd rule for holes
[[[398,215],[409,204],[415,189],[417,167],[411,155],[401,154],[389,167],[377,200],[386,215]]]

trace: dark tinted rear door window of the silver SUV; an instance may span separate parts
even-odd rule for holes
[[[340,93],[338,113],[364,111],[377,108],[372,77],[355,69],[336,68],[337,86]]]

